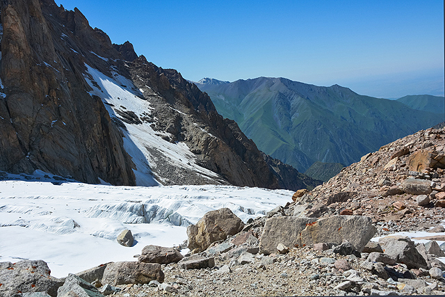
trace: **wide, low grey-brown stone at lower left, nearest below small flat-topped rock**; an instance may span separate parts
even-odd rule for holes
[[[106,266],[102,283],[111,284],[148,284],[152,280],[163,282],[161,265],[143,262],[115,262]]]

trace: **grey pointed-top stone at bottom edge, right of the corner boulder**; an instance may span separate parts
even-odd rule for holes
[[[57,290],[58,297],[103,297],[99,290],[86,282],[85,280],[79,278],[75,274],[68,274],[65,283],[62,287]]]

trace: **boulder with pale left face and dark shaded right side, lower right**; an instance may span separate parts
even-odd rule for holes
[[[426,259],[416,250],[414,242],[406,239],[387,239],[384,252],[394,257],[397,263],[405,264],[408,269],[427,268]]]

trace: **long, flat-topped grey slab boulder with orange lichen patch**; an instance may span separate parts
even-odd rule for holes
[[[259,252],[274,253],[278,243],[293,248],[323,242],[341,244],[345,240],[360,252],[375,232],[371,218],[366,216],[330,216],[319,220],[275,217],[266,220]]]

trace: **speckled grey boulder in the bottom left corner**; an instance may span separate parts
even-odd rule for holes
[[[0,296],[13,296],[17,292],[47,292],[57,296],[58,287],[63,280],[53,278],[46,262],[42,260],[24,260],[15,264],[0,264]]]

